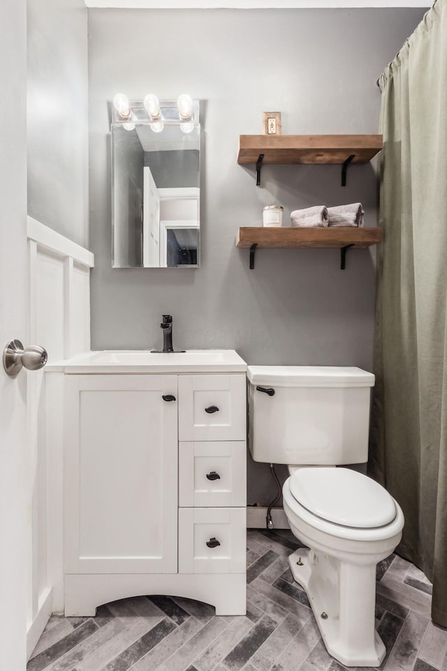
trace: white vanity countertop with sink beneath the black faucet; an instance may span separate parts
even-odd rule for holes
[[[152,354],[149,349],[106,349],[87,352],[54,363],[47,372],[101,373],[245,373],[247,363],[235,349],[189,349],[187,352]]]

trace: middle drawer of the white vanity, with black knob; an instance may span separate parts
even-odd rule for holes
[[[179,505],[235,506],[247,501],[245,441],[181,442]]]

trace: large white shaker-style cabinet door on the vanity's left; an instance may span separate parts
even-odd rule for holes
[[[176,399],[173,375],[66,376],[66,572],[177,571]]]

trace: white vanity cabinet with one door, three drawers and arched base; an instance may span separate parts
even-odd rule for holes
[[[64,370],[65,613],[170,594],[244,614],[245,373],[122,370]]]

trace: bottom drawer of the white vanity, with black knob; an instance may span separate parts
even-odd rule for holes
[[[245,508],[180,508],[179,573],[244,573]]]

